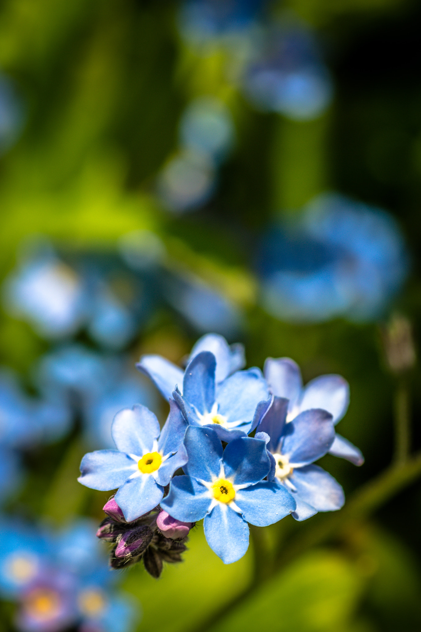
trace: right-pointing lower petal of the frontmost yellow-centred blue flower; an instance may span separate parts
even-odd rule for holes
[[[273,525],[296,507],[294,498],[283,485],[267,481],[238,490],[234,502],[247,522],[256,526]]]

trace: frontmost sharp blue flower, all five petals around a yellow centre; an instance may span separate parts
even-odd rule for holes
[[[190,426],[185,445],[187,475],[172,479],[161,507],[176,520],[205,518],[206,540],[225,564],[246,553],[247,522],[267,526],[295,510],[295,501],[285,488],[262,480],[271,465],[264,441],[234,439],[223,451],[211,428]]]

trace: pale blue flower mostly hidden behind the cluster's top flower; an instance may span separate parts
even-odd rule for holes
[[[229,346],[225,338],[218,336],[218,334],[206,334],[206,336],[201,337],[191,350],[187,362],[191,362],[201,351],[210,351],[215,356],[216,384],[220,384],[228,375],[246,365],[242,344]],[[144,355],[136,367],[152,380],[165,399],[172,397],[176,386],[181,391],[184,371],[166,358],[158,355]]]

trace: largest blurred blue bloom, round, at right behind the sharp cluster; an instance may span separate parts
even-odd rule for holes
[[[271,227],[258,253],[261,300],[275,317],[376,319],[401,288],[408,255],[384,210],[336,194]]]

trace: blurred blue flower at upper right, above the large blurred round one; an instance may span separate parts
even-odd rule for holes
[[[297,23],[280,23],[259,33],[243,85],[258,109],[295,120],[317,118],[333,96],[314,35]]]

